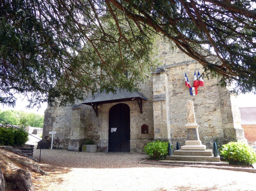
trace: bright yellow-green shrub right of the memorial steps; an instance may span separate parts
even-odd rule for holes
[[[229,142],[222,145],[220,155],[231,164],[253,164],[256,162],[256,153],[247,144]]]

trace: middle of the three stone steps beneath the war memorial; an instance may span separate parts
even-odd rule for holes
[[[166,156],[166,160],[170,161],[213,161],[220,162],[220,156],[182,156],[182,155],[173,155]]]

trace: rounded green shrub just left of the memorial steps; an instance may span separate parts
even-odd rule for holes
[[[150,159],[161,160],[168,154],[168,143],[159,140],[149,142],[144,147],[144,151],[149,155]],[[171,146],[171,149],[173,149],[173,146]]]

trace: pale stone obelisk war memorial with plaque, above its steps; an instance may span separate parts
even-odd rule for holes
[[[195,118],[195,111],[193,101],[187,102],[188,123],[185,125],[187,128],[187,141],[186,145],[181,147],[181,150],[206,150],[206,146],[202,145],[199,139],[198,127]]]

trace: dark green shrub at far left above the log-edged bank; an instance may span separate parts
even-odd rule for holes
[[[25,130],[24,127],[19,127]],[[14,127],[0,127],[0,145],[22,146],[28,141],[28,134]]]

